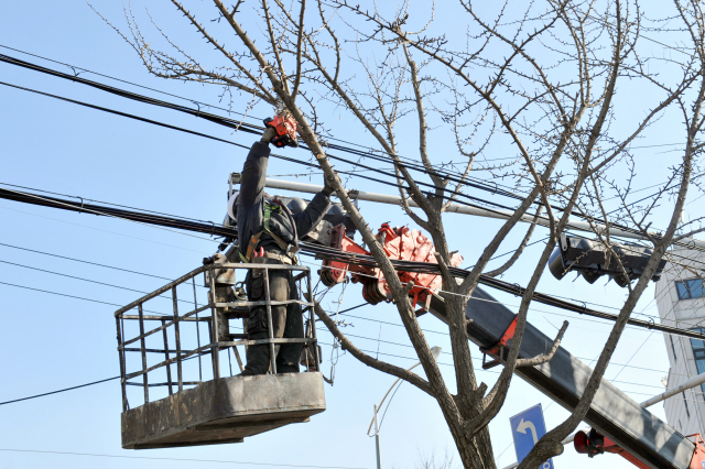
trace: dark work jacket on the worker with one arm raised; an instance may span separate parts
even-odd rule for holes
[[[250,149],[240,177],[237,225],[240,252],[245,255],[253,234],[264,229],[264,178],[269,162],[269,144],[257,142]],[[293,215],[299,238],[305,237],[323,219],[330,208],[330,197],[321,192],[315,195],[304,211]],[[293,243],[294,230],[283,210],[272,210],[270,229],[286,243]],[[260,247],[265,250],[279,249],[276,241],[267,232],[260,238]]]

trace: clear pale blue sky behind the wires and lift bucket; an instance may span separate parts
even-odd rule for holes
[[[110,19],[119,22],[122,18],[121,6],[115,2],[97,2],[95,6]],[[138,7],[144,8],[143,4],[135,3],[134,8]],[[180,40],[197,40],[170,4],[150,2],[149,8],[155,18],[163,18],[163,24]],[[194,100],[210,103],[218,101],[218,90],[215,88],[151,77],[134,52],[82,1],[6,4],[0,17],[0,44]],[[45,66],[55,66],[9,50],[0,52],[30,62],[36,61]],[[56,67],[67,70],[66,67]],[[85,76],[96,79],[95,76]],[[252,135],[231,134],[228,129],[192,117],[120,100],[98,90],[7,64],[0,64],[0,77],[2,81],[134,112],[242,144],[249,145],[253,141]],[[145,92],[137,88],[130,89]],[[625,90],[625,99],[629,99],[637,91]],[[159,97],[154,94],[152,96]],[[247,102],[242,97],[236,98],[235,103],[245,107]],[[218,221],[223,219],[225,211],[228,174],[240,170],[245,159],[245,151],[223,143],[8,87],[0,87],[0,109],[3,113],[0,127],[0,183]],[[267,112],[267,109],[259,108],[257,111]],[[335,116],[333,111],[330,114]],[[339,122],[335,122],[334,133],[341,137],[349,128],[346,127],[345,116],[340,116],[338,120]],[[662,127],[660,133],[649,135],[649,142],[670,143],[671,135],[679,131],[677,124],[680,121],[674,120],[673,126]],[[413,149],[415,130],[409,132],[408,148]],[[346,139],[357,141],[361,138],[348,131]],[[294,154],[295,151],[285,152]],[[659,154],[655,150],[649,149],[640,153],[639,157],[644,159],[644,162],[652,162],[654,168],[662,168],[672,163],[668,160],[670,155]],[[302,173],[302,170],[291,164],[272,162],[270,173],[294,174]],[[314,175],[311,181],[318,183],[316,177],[319,176]],[[643,174],[640,183],[646,187],[662,177],[662,171],[653,170]],[[308,177],[305,181],[308,181]],[[365,182],[355,184],[359,189],[390,190]],[[360,203],[360,207],[372,227],[390,220],[392,225],[409,222],[401,212],[389,207],[367,203]],[[200,265],[202,258],[212,254],[217,247],[217,243],[208,240],[121,220],[62,212],[7,200],[0,200],[0,261],[140,291],[155,290],[164,281],[32,253],[6,244],[165,277],[176,277],[195,269]],[[467,261],[478,255],[479,249],[499,227],[499,222],[495,220],[460,215],[447,215],[446,223],[452,248],[459,249]],[[513,233],[500,252],[513,249],[522,234],[523,229]],[[544,236],[545,232],[539,229],[534,239]],[[530,248],[527,259],[505,279],[525,283],[525,270],[531,269],[542,246]],[[464,265],[467,265],[467,262]],[[0,264],[0,282],[118,305],[127,304],[138,296],[133,292],[7,263]],[[603,281],[598,281],[590,286],[581,280],[571,282],[567,279],[558,283],[550,275],[544,275],[540,290],[583,301],[590,299],[608,306],[619,306],[625,298],[625,291],[614,283],[604,285]],[[333,291],[326,299],[337,299],[338,293],[339,290]],[[117,307],[4,284],[0,284],[0,369],[3,372],[0,402],[118,374],[112,317]],[[512,296],[496,296],[510,307],[518,304],[518,298]],[[653,287],[650,286],[637,310],[655,315],[652,298]],[[345,294],[343,308],[360,302],[359,287],[351,285]],[[326,306],[335,305],[328,303]],[[532,309],[530,320],[544,332],[553,335],[564,319],[564,314],[538,305]],[[379,347],[379,352],[390,355],[384,357],[395,364],[411,366],[415,362],[413,349],[408,347],[403,329],[388,324],[380,326],[375,321],[381,319],[399,324],[392,306],[365,307],[356,310],[355,315],[359,318],[349,319],[354,327],[348,330],[358,336],[354,341],[360,348],[378,350]],[[571,326],[564,346],[589,362],[599,353],[609,326],[597,320],[570,314],[568,316]],[[427,330],[435,331],[427,334],[429,341],[444,348],[446,353],[442,355],[440,361],[445,363],[442,369],[452,382],[453,370],[447,366],[452,362],[452,357],[447,355],[449,343],[443,334],[436,334],[443,330],[442,324],[431,315],[422,317],[421,323]],[[378,343],[378,337],[406,346]],[[327,334],[323,334],[321,340],[324,343],[332,342]],[[324,345],[326,361],[323,369],[326,373],[330,364],[329,353],[330,347]],[[479,353],[475,355],[479,357]],[[660,379],[668,373],[668,359],[663,338],[659,334],[628,328],[614,362],[628,362],[629,367],[610,366],[607,378],[614,379],[618,375],[616,384],[630,393],[634,400],[642,401],[661,392]],[[495,371],[480,371],[479,377],[491,384]],[[372,415],[372,405],[381,399],[392,382],[392,378],[361,366],[348,355],[341,355],[336,368],[335,385],[326,385],[328,408],[324,414],[312,418],[311,423],[292,425],[249,438],[239,445],[149,451],[129,451],[120,448],[120,389],[117,382],[108,382],[0,406],[0,449],[191,460],[127,460],[0,450],[0,468],[118,468],[124,467],[126,463],[134,468],[212,466],[208,462],[195,461],[196,459],[370,468],[375,463],[375,443],[365,432]],[[490,424],[495,454],[501,454],[499,467],[514,460],[513,448],[509,447],[509,417],[536,403],[543,405],[547,427],[558,424],[567,415],[540,392],[520,379],[514,380],[507,404]],[[654,406],[653,412],[663,416],[660,405]],[[453,440],[436,404],[408,384],[394,396],[393,405],[382,426],[381,438],[384,467],[412,467],[420,455],[434,451],[440,455],[446,448],[451,454],[454,452]],[[555,460],[555,466],[590,468],[606,462],[615,468],[631,467],[617,456],[608,455],[589,460],[575,455],[572,448],[567,448],[566,452]],[[262,466],[240,463],[234,467]]]

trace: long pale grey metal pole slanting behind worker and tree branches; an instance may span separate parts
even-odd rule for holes
[[[235,184],[239,184],[240,174],[232,173],[231,182]],[[323,186],[317,186],[315,184],[297,183],[293,181],[271,179],[269,177],[265,179],[264,186],[270,188],[275,188],[275,189],[295,190],[295,192],[307,193],[307,194],[317,194],[321,192],[321,189],[323,189]],[[349,190],[348,195],[350,195],[356,200],[377,201],[380,204],[390,204],[390,205],[401,206],[400,196],[394,196],[389,194],[367,193],[364,190]],[[414,203],[413,200],[410,199],[408,201],[410,207],[419,207],[419,205],[416,205],[416,203]],[[501,210],[501,209],[487,210],[480,207],[470,207],[467,205],[459,205],[459,204],[448,205],[446,211],[454,211],[456,214],[464,214],[464,215],[475,215],[478,217],[499,218],[502,220],[506,220],[513,215],[513,212],[510,210]],[[520,221],[532,223],[533,216],[530,214],[525,214],[520,218]],[[550,227],[550,220],[545,216],[539,217],[539,219],[536,220],[536,223],[544,227]],[[604,230],[605,226],[590,225],[587,221],[568,220],[568,223],[566,225],[566,229],[595,232],[596,230],[598,231]],[[611,236],[618,236],[621,238],[648,240],[648,237],[646,237],[644,234],[623,231],[615,227],[609,227],[609,232]],[[705,248],[705,241],[699,241],[699,240],[688,238],[688,239],[684,239],[683,242],[688,243],[695,248]]]

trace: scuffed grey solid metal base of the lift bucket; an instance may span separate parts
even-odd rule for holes
[[[318,372],[221,378],[123,412],[122,447],[239,443],[325,408]]]

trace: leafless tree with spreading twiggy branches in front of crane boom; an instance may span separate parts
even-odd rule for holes
[[[242,0],[230,7],[213,0],[215,11],[199,6],[203,12],[198,17],[177,0],[172,3],[200,40],[216,50],[217,65],[206,65],[205,58],[191,52],[195,46],[177,44],[150,18],[162,35],[163,47],[155,45],[147,39],[131,9],[126,10],[129,32],[116,31],[158,77],[213,84],[230,98],[232,92],[250,96],[250,107],[264,101],[291,112],[301,138],[335,185],[383,272],[425,378],[364,353],[322,307],[315,312],[343,348],[361,362],[409,381],[438,403],[466,468],[496,467],[488,424],[505,403],[514,370],[551,360],[566,330],[564,323],[545,356],[519,357],[533,293],[570,217],[578,214],[590,221],[597,242],[610,250],[612,223],[629,223],[648,237],[651,259],[638,282],[627,285],[628,297],[585,393],[571,416],[549,432],[520,467],[535,468],[561,454],[561,441],[587,413],[626,321],[666,248],[699,231],[674,234],[702,150],[698,138],[705,97],[705,28],[699,4],[675,2],[676,18],[671,21],[680,21],[676,30],[691,43],[691,52],[675,62],[641,53],[639,41],[647,26],[636,0],[605,0],[599,11],[593,2],[575,0],[529,4],[507,1],[478,11],[471,1],[460,0],[445,8],[451,9],[457,24],[465,26],[467,33],[462,37],[445,34],[443,25],[436,24],[440,12],[435,6],[411,8],[404,1],[384,4],[381,11],[381,6],[366,9],[346,0],[296,0],[286,4],[282,0],[259,0],[245,11]],[[210,21],[199,20],[204,15]],[[661,78],[659,70],[665,67],[669,74]],[[617,99],[619,85],[634,80],[650,90],[639,103],[639,112],[633,111],[633,103]],[[326,126],[333,124],[323,116],[332,108],[345,109],[357,122],[357,131],[373,141],[375,164],[379,165],[381,157],[389,165],[404,212],[433,239],[443,279],[440,295],[448,314],[455,394],[444,381],[417,323],[409,297],[412,285],[400,281],[326,154]],[[660,118],[670,117],[672,109],[680,109],[686,122],[685,152],[660,193],[640,205],[629,203],[637,174],[630,145]],[[419,150],[414,159],[400,154],[399,142],[412,134],[410,122],[416,129],[413,133]],[[429,143],[432,129],[452,141],[457,154],[440,155]],[[486,155],[494,151],[516,157],[492,164]],[[452,201],[467,203],[465,190],[473,172],[509,181],[518,205],[467,275],[456,279],[449,270],[453,252],[443,215]],[[669,226],[654,236],[650,231],[653,208],[674,190],[677,194],[671,204]],[[605,194],[609,193],[618,194],[619,211],[607,211]],[[412,208],[409,200],[419,208]],[[488,271],[502,241],[527,215],[534,223],[541,219],[549,225],[549,241],[527,275],[508,357],[499,379],[488,390],[475,374],[466,305],[480,274],[499,275],[520,258],[534,226],[508,262]],[[619,255],[612,255],[609,262],[627,275]]]

